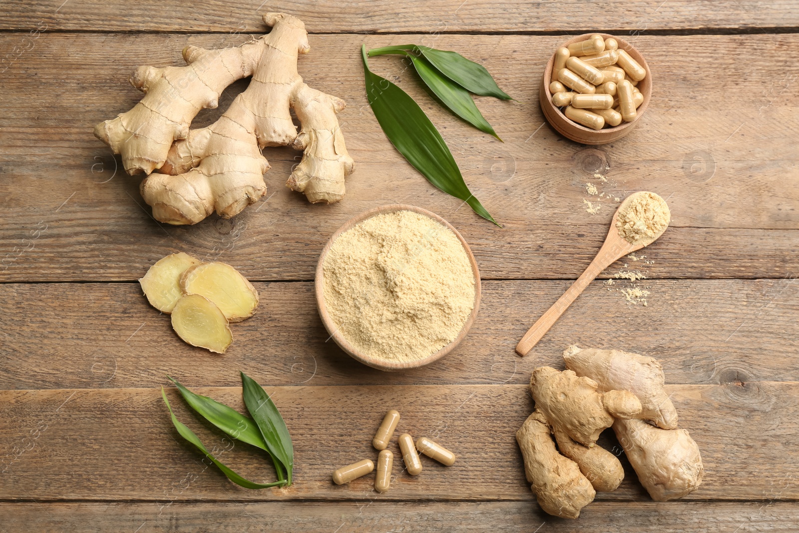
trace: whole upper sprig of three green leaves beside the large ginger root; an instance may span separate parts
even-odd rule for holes
[[[475,213],[497,224],[469,191],[447,143],[419,105],[403,89],[369,70],[368,56],[384,54],[401,54],[408,58],[439,104],[498,139],[470,93],[503,100],[510,100],[511,97],[499,89],[485,67],[456,52],[401,45],[376,48],[367,54],[366,46],[361,46],[369,105],[388,140],[427,181],[465,201]]]

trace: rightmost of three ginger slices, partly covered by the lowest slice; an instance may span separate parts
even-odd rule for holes
[[[252,316],[258,308],[258,291],[226,263],[205,263],[186,270],[181,276],[184,294],[199,294],[217,304],[230,322]]]

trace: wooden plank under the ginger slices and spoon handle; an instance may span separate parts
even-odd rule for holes
[[[256,283],[255,316],[232,325],[225,356],[182,342],[138,284],[0,284],[0,389],[196,385],[527,384],[563,368],[562,351],[621,348],[661,361],[667,383],[799,381],[799,282],[643,280],[646,307],[594,282],[525,358],[514,347],[568,281],[484,281],[479,315],[454,352],[425,368],[382,372],[324,331],[310,282]],[[608,290],[608,289],[614,290]]]

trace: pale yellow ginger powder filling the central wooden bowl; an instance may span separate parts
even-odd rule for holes
[[[458,237],[413,211],[381,213],[341,233],[323,269],[328,314],[365,356],[430,356],[458,336],[475,304]]]

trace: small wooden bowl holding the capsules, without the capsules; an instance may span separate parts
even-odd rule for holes
[[[574,42],[585,41],[591,35],[595,34],[578,35],[564,42],[561,46],[569,46]],[[544,70],[544,76],[541,80],[541,90],[539,92],[541,110],[544,113],[544,117],[547,118],[547,121],[553,128],[557,129],[563,137],[569,138],[572,141],[582,142],[584,145],[604,145],[608,142],[616,141],[624,137],[627,133],[630,133],[630,131],[638,125],[638,121],[646,111],[646,107],[649,105],[650,98],[652,97],[652,73],[638,50],[635,50],[629,42],[623,41],[616,35],[598,35],[602,35],[602,38],[605,39],[616,39],[618,42],[618,49],[625,50],[627,54],[630,54],[630,57],[644,67],[646,70],[646,78],[638,82],[638,90],[644,95],[644,101],[638,106],[638,116],[635,117],[634,121],[622,122],[614,128],[590,129],[586,128],[584,125],[579,125],[577,122],[571,121],[569,118],[566,118],[566,115],[563,114],[557,105],[552,103],[552,93],[549,90],[549,85],[552,78],[552,66],[555,64],[555,54],[553,53],[549,62],[547,62],[547,69]]]

